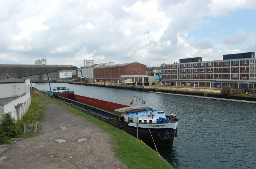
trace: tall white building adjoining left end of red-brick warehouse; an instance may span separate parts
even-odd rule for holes
[[[112,62],[110,62],[112,63]],[[80,67],[77,69],[78,78],[81,81],[87,79],[88,81],[93,81],[93,68],[100,66],[107,66],[108,63],[99,63],[94,64],[94,60],[84,60],[84,67]]]

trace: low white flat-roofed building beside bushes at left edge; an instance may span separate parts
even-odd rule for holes
[[[30,79],[0,79],[0,119],[9,112],[14,119],[21,119],[30,104]]]

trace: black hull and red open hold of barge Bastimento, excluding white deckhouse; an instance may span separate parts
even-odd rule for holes
[[[119,115],[112,113],[114,109],[129,106],[74,94],[57,95],[56,98],[65,101],[70,106],[76,109],[80,109],[81,111],[90,114],[91,116],[96,117],[105,123],[111,124],[121,130],[124,130],[126,133],[132,135],[133,137],[140,138],[145,144],[164,145],[168,147],[171,147],[173,144],[178,122],[170,122],[176,124],[176,126],[174,126],[175,128],[137,128],[134,127],[134,124],[129,125],[130,122],[125,122],[121,120]],[[102,114],[102,116],[95,114],[95,112]]]

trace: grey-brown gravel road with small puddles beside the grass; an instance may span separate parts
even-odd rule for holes
[[[45,103],[42,135],[1,146],[1,169],[127,168],[110,150],[110,134],[62,106]]]

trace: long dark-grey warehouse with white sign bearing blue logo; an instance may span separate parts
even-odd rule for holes
[[[77,67],[72,65],[0,65],[0,79],[28,78],[30,81],[77,80]]]

